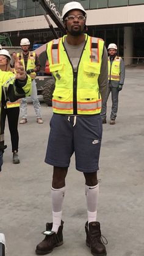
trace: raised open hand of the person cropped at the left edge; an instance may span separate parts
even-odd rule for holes
[[[19,60],[19,58],[16,56],[16,53],[13,53],[13,59],[15,61],[15,78],[19,80],[25,80],[26,79],[26,71],[24,71],[24,67],[22,62]]]

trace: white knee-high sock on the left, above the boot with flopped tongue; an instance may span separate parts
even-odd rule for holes
[[[56,232],[61,225],[62,220],[62,203],[65,196],[65,187],[56,189],[51,187],[52,198],[52,231]]]

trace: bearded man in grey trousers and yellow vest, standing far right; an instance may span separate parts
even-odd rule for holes
[[[108,77],[109,77],[109,88],[107,91],[106,98],[103,101],[101,110],[101,117],[103,123],[106,123],[107,113],[107,99],[109,98],[110,92],[112,93],[112,111],[110,114],[110,125],[115,125],[115,118],[117,117],[118,111],[118,93],[123,88],[124,77],[125,77],[125,66],[123,59],[117,56],[117,45],[109,44],[108,48]]]

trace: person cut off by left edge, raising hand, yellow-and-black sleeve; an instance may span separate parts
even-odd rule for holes
[[[2,51],[4,55],[4,50],[0,51]],[[7,58],[4,60],[5,56],[6,54],[4,56],[1,55],[0,61],[7,61]],[[3,60],[1,60],[2,58]],[[24,98],[24,96],[29,96],[31,94],[31,77],[26,75],[23,64],[18,60],[15,53],[13,53],[13,58],[15,60],[15,74],[11,71],[0,70],[0,171],[3,162],[2,155],[4,153],[4,149],[7,147],[4,145],[6,103],[7,101],[15,102],[17,99]]]

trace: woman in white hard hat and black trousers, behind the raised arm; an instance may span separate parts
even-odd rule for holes
[[[12,71],[10,68],[10,53],[7,50],[0,50],[0,69],[1,71]],[[3,109],[2,117],[5,126],[5,118],[7,115],[10,137],[12,142],[12,152],[13,152],[13,163],[20,163],[20,159],[18,157],[18,117],[20,114],[20,100],[11,103],[7,101],[6,106]]]

